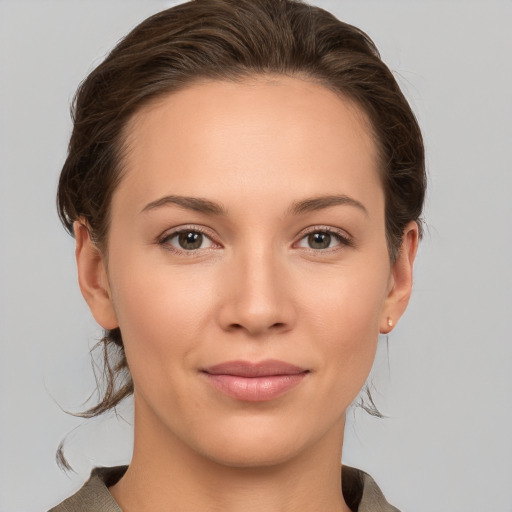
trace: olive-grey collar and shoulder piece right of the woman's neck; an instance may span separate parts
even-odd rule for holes
[[[343,466],[342,489],[347,505],[357,512],[400,512],[390,505],[375,480],[364,471]]]

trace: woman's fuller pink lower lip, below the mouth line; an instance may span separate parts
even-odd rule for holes
[[[273,400],[298,386],[307,372],[292,375],[240,377],[238,375],[212,375],[205,373],[209,382],[224,394],[246,402]]]

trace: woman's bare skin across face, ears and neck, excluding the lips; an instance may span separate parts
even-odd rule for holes
[[[317,83],[255,77],[168,95],[127,133],[108,261],[75,223],[83,295],[99,324],[120,326],[135,386],[134,454],[113,496],[125,512],[348,511],[345,411],[406,308],[418,244],[411,222],[391,264],[368,120]],[[168,195],[225,211],[148,207]],[[294,209],[327,196],[345,199]],[[180,247],[178,228],[203,245]],[[308,373],[248,402],[201,372],[265,359]]]

